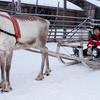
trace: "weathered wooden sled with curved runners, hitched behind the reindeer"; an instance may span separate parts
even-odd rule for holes
[[[73,44],[72,42],[66,42],[66,41],[59,42],[57,45],[57,49],[56,49],[57,53],[61,53],[61,48],[63,48],[65,51],[67,51],[67,48],[69,48],[69,47],[71,49],[78,48],[79,49],[79,57],[76,57],[74,54],[67,53],[67,55],[69,56],[67,60],[72,60],[71,62],[66,62],[66,60],[64,60],[60,56],[57,56],[58,60],[66,65],[74,65],[74,64],[78,64],[78,63],[82,62],[83,65],[85,65],[86,67],[92,68],[94,70],[100,69],[100,58],[97,59],[97,58],[94,58],[93,56],[84,57],[83,56],[83,42],[80,41],[79,43],[80,43],[79,45],[75,45],[75,44],[72,45]]]

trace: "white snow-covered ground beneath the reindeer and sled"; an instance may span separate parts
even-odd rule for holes
[[[56,43],[47,43],[56,51]],[[0,93],[0,100],[100,100],[100,70],[86,68],[81,63],[66,66],[49,57],[50,76],[36,81],[41,55],[24,50],[14,51],[9,93]]]

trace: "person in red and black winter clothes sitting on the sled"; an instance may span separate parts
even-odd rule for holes
[[[74,49],[74,54],[79,56],[79,50]],[[90,41],[87,44],[87,49],[83,50],[84,56],[91,56],[93,55],[95,58],[100,56],[100,27],[95,26],[93,28],[93,35],[90,38]]]

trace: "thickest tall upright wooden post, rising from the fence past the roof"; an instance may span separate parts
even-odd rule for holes
[[[66,18],[65,18],[65,16],[66,16],[66,11],[67,11],[67,9],[66,9],[66,4],[67,4],[67,0],[64,0],[64,11],[63,11],[63,21],[64,21],[64,23],[63,23],[63,39],[66,39],[66,27],[65,27],[65,25],[66,25]]]

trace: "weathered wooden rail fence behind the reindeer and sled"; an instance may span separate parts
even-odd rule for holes
[[[12,12],[0,9],[13,14],[25,14],[19,12]],[[50,21],[50,28],[47,42],[58,42],[61,40],[78,40],[81,37],[85,41],[89,40],[92,28],[95,25],[100,25],[100,20],[91,19],[91,17],[73,17],[73,16],[59,16],[59,15],[44,15],[44,14],[29,14],[31,16],[39,16]],[[63,20],[66,19],[66,20]]]

